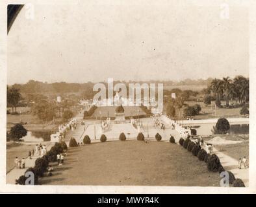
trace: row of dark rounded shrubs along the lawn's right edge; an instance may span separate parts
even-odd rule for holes
[[[200,161],[204,161],[207,164],[207,169],[209,171],[218,173],[225,171],[216,154],[210,155],[205,151],[205,149],[201,149],[199,144],[192,142],[190,138],[186,138],[186,140],[180,138],[179,144],[188,151],[191,151],[192,155],[198,157]],[[227,171],[227,173],[229,173],[229,184],[232,184],[233,187],[245,187],[244,182],[241,179],[236,179],[235,175],[231,171]]]

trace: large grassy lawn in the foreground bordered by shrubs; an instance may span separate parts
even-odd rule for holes
[[[63,166],[55,167],[49,185],[219,186],[183,147],[169,142],[113,141],[70,148]]]

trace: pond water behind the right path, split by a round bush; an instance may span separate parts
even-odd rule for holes
[[[196,129],[197,135],[212,135],[212,129],[216,124],[183,124],[183,126],[192,126],[192,129]],[[231,135],[248,135],[249,124],[231,124],[230,129],[227,132]]]

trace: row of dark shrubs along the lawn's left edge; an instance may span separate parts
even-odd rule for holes
[[[49,162],[56,162],[57,155],[66,150],[68,150],[68,146],[65,142],[56,142],[55,145],[47,151],[46,155],[36,159],[34,168],[28,168],[27,171],[25,171],[25,174],[21,175],[19,179],[16,180],[16,184],[25,185],[25,180],[28,179],[28,177],[25,177],[27,172],[32,172],[34,174],[34,184],[38,184],[38,178],[44,176],[44,172],[46,171]]]

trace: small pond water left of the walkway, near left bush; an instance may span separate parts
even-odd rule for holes
[[[24,142],[47,142],[51,139],[52,131],[28,131],[22,138]]]

